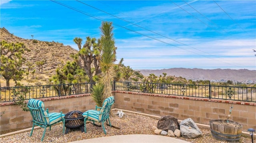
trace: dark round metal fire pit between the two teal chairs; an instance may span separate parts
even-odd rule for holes
[[[65,134],[68,133],[70,129],[80,128],[82,132],[84,132],[84,117],[82,116],[83,112],[80,111],[71,111],[68,112],[64,119],[65,119],[65,127],[66,131]]]

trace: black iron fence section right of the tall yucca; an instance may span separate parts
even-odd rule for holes
[[[256,87],[116,82],[114,90],[256,102]]]

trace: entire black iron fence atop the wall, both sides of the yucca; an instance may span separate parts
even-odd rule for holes
[[[0,102],[48,98],[91,92],[94,83],[1,87]],[[256,102],[256,87],[113,82],[112,90]]]

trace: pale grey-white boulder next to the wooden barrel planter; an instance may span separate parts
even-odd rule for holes
[[[202,131],[198,128],[196,123],[191,119],[184,119],[180,122],[180,133],[184,138],[202,137]]]

